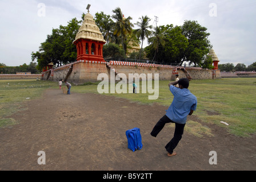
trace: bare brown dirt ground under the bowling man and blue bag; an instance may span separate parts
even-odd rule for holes
[[[42,99],[23,106],[28,109],[12,116],[19,123],[0,129],[0,170],[256,169],[255,135],[236,137],[225,127],[208,123],[203,125],[211,128],[214,137],[185,132],[175,149],[177,155],[167,157],[165,145],[174,128],[165,127],[157,138],[150,135],[167,109],[157,104],[49,89]],[[141,130],[143,143],[142,150],[135,152],[127,148],[125,135],[134,127]],[[45,165],[37,163],[38,151],[45,151]],[[210,151],[217,152],[216,165],[209,164]]]

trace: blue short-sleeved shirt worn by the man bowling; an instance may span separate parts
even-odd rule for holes
[[[166,112],[166,116],[171,121],[185,124],[190,110],[197,109],[197,97],[189,89],[180,89],[173,85],[170,86],[170,91],[173,93],[174,98]]]

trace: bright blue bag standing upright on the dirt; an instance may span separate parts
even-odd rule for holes
[[[127,130],[126,137],[128,140],[128,148],[130,148],[130,150],[141,150],[141,131],[137,127],[135,127],[134,129]]]

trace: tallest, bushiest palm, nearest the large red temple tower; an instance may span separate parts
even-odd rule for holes
[[[130,22],[130,20],[133,18],[131,18],[130,16],[128,18],[124,18],[120,7],[117,7],[115,10],[113,10],[113,13],[114,15],[112,15],[112,18],[116,20],[114,35],[117,35],[121,38],[122,47],[126,54],[126,45],[124,44],[124,42],[126,36],[131,34],[131,32],[133,31],[133,23]]]

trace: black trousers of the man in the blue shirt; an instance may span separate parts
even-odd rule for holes
[[[164,115],[154,126],[150,134],[153,137],[157,137],[158,133],[163,129],[166,123],[175,123],[175,122],[171,121],[171,119],[169,119],[166,115]],[[181,140],[185,125],[186,124],[175,123],[174,136],[170,140],[170,142],[167,143],[165,146],[167,152],[169,152],[170,154],[173,154],[174,148],[177,147],[179,140]]]

